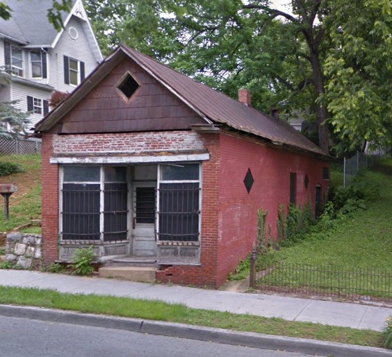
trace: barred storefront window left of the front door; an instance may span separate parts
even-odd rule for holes
[[[126,168],[63,167],[61,214],[63,240],[126,240]]]

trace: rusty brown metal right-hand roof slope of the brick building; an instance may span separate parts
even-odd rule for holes
[[[227,124],[232,128],[252,133],[277,144],[287,144],[298,149],[326,155],[325,151],[287,122],[245,106],[240,101],[198,83],[134,49],[126,46],[122,46],[122,49],[140,67],[166,83],[172,92],[176,92],[178,97],[185,99],[212,122]]]

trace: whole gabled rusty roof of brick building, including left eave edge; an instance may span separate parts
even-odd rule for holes
[[[56,107],[47,117],[44,117],[35,126],[35,132],[49,131],[63,116],[65,116],[88,92],[95,88],[104,76],[108,75],[124,58],[131,58],[135,63],[145,69],[147,73],[156,78],[170,92],[176,95],[183,103],[195,110],[206,120],[206,124],[225,124],[244,133],[254,134],[270,140],[278,145],[287,145],[295,149],[327,156],[325,151],[313,144],[301,133],[295,131],[290,124],[275,119],[245,106],[243,103],[209,88],[202,83],[174,71],[170,67],[145,56],[138,51],[120,45],[113,53],[88,76],[80,87],[72,93],[60,106]]]

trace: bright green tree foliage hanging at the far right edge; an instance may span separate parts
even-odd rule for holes
[[[330,120],[342,140],[338,151],[364,140],[391,145],[391,8],[383,0],[335,0],[330,6],[326,26],[334,46],[327,53],[325,74]]]

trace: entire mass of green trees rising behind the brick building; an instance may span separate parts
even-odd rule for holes
[[[291,0],[293,15],[268,0],[86,3],[106,53],[124,42],[232,97],[250,88],[262,110],[306,112],[325,151],[330,125],[340,149],[389,137],[391,0]]]

